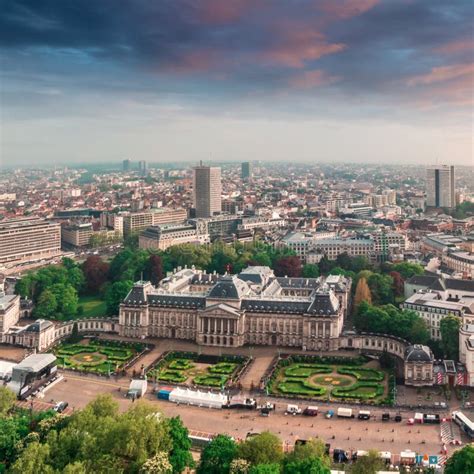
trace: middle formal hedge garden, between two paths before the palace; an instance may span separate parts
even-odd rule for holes
[[[168,352],[147,371],[149,380],[187,386],[223,388],[237,382],[249,358]]]

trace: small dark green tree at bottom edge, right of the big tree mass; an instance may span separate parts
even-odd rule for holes
[[[216,436],[202,451],[197,474],[227,474],[237,457],[237,444],[227,435]]]

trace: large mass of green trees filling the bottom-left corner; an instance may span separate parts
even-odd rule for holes
[[[125,413],[110,395],[72,416],[13,407],[0,388],[0,472],[83,474],[180,473],[193,466],[188,431],[145,402]],[[2,408],[3,407],[3,408]]]

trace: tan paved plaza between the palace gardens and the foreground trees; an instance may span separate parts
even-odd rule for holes
[[[114,380],[66,374],[63,381],[48,390],[44,401],[65,400],[72,409],[78,409],[97,395],[110,393],[119,402],[120,408],[126,410],[133,403],[125,398],[128,384],[129,379],[125,378]],[[321,413],[317,417],[291,416],[284,414],[286,404],[278,401],[277,410],[269,417],[262,417],[256,411],[176,405],[157,400],[152,393],[148,393],[146,398],[165,415],[181,416],[190,430],[209,434],[227,433],[236,439],[244,439],[249,432],[270,430],[280,436],[287,446],[292,446],[297,439],[320,437],[330,443],[332,448],[343,448],[347,451],[373,448],[398,454],[409,449],[423,455],[434,455],[439,454],[441,449],[440,426],[409,426],[406,420],[412,414],[408,413],[403,413],[401,423],[382,422],[380,409],[373,412],[376,419],[372,417],[368,421],[337,417],[326,419]],[[337,410],[336,406],[332,408]],[[395,410],[384,411],[396,413]]]

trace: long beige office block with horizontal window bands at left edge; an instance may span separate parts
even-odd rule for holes
[[[61,253],[61,226],[34,217],[0,223],[0,263],[22,263]]]

